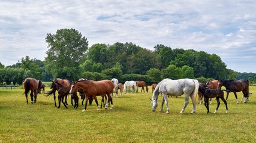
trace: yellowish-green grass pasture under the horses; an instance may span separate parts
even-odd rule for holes
[[[50,91],[49,86],[46,91]],[[140,91],[140,88],[139,90]],[[184,95],[168,98],[170,114],[159,112],[162,97],[159,95],[156,112],[152,112],[149,92],[124,94],[113,97],[110,107],[97,111],[95,101],[82,112],[84,105],[73,109],[70,98],[68,109],[54,105],[53,95],[38,94],[37,103],[26,104],[24,89],[0,89],[0,142],[256,142],[256,86],[250,86],[249,102],[239,104],[230,93],[227,104],[221,101],[213,114],[216,101],[192,110],[191,99],[183,114]],[[56,93],[57,94],[57,93]],[[57,94],[58,95],[58,94]],[[226,95],[226,93],[225,93]],[[101,97],[97,97],[101,100]]]

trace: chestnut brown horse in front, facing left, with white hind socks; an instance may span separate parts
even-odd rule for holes
[[[74,82],[70,89],[70,94],[74,94],[74,93],[76,94],[79,88],[83,89],[86,95],[85,109],[83,111],[86,110],[86,107],[88,104],[88,97],[94,97],[94,100],[98,106],[98,110],[100,110],[97,96],[106,95],[106,94],[107,94],[107,97],[109,98],[107,104],[109,104],[109,101],[110,101],[111,102],[110,109],[113,108],[113,100],[111,97],[111,93],[115,88],[115,85],[111,80],[101,80],[97,82],[93,80],[80,80],[80,81]],[[107,109],[107,104],[105,105],[106,109]]]

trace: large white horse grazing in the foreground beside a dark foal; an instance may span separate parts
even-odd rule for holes
[[[191,111],[191,114],[194,114],[196,110],[195,104],[196,104],[196,98],[198,93],[198,87],[199,87],[198,80],[195,80],[195,79],[178,79],[178,80],[164,79],[162,80],[161,82],[158,83],[152,95],[152,100],[151,100],[152,111],[155,111],[158,105],[157,99],[159,94],[162,94],[163,96],[162,106],[160,111],[162,111],[164,101],[165,101],[165,104],[167,107],[166,113],[169,113],[167,95],[178,97],[184,94],[185,103],[184,103],[184,107],[180,111],[180,114],[182,114],[183,111],[185,111],[185,108],[189,102],[189,97],[191,98],[192,104],[193,104],[193,110]]]

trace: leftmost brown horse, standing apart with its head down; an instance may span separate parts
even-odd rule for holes
[[[23,94],[26,95],[26,104],[28,104],[28,92],[31,91],[30,97],[31,97],[31,103],[37,102],[37,94],[40,93],[40,86],[41,86],[41,81],[38,82],[36,79],[28,77],[24,80],[24,89],[25,92]],[[33,95],[34,94],[34,95]]]

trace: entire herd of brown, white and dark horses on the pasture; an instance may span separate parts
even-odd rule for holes
[[[125,94],[128,94],[129,89],[131,89],[131,92],[136,92],[136,89],[138,87],[141,87],[141,92],[145,92],[144,88],[146,88],[146,92],[149,91],[146,82],[144,81],[126,81],[124,85],[122,83],[118,82],[118,79],[113,78],[112,80],[100,80],[100,81],[94,81],[94,80],[88,80],[88,79],[79,79],[76,82],[70,82],[68,79],[55,79],[52,81],[52,84],[50,86],[51,91],[45,92],[45,85],[41,82],[41,80],[36,80],[34,78],[28,77],[23,82],[24,89],[25,89],[25,96],[26,96],[26,102],[28,104],[28,93],[31,91],[31,103],[37,102],[37,94],[41,94],[41,91],[45,94],[46,97],[49,97],[53,94],[53,98],[55,101],[55,107],[56,105],[56,91],[58,91],[58,108],[61,107],[61,102],[67,107],[67,97],[71,94],[71,104],[73,105],[74,100],[74,108],[77,108],[79,105],[79,97],[77,95],[77,92],[79,92],[80,98],[82,99],[82,105],[83,101],[85,100],[85,108],[83,111],[86,110],[87,104],[89,101],[89,104],[92,104],[92,101],[95,100],[98,110],[104,106],[104,108],[107,109],[107,107],[110,106],[110,109],[113,108],[113,91],[115,91],[116,97],[118,97],[118,90],[121,92],[121,96],[123,95],[122,92],[124,91]],[[225,89],[221,89],[222,86],[225,87]],[[249,97],[249,82],[248,80],[209,80],[206,83],[199,83],[196,79],[178,79],[178,80],[171,80],[171,79],[163,79],[158,84],[153,83],[151,85],[152,88],[152,111],[156,110],[156,107],[158,106],[158,97],[159,94],[162,95],[162,104],[160,111],[163,110],[163,105],[165,103],[167,107],[167,112],[169,112],[169,106],[168,106],[168,97],[179,97],[181,95],[185,95],[185,103],[183,105],[182,110],[180,111],[180,114],[185,111],[186,106],[189,102],[189,97],[192,101],[192,111],[191,114],[194,114],[196,111],[196,98],[198,96],[198,102],[201,104],[203,102],[204,97],[204,105],[207,109],[207,113],[210,113],[209,110],[209,99],[216,98],[217,101],[217,107],[214,113],[218,111],[219,108],[219,99],[221,99],[225,106],[226,106],[226,113],[228,112],[227,107],[227,100],[228,100],[228,94],[230,92],[233,92],[236,100],[237,100],[237,94],[236,92],[243,93],[243,97],[245,97],[245,103],[248,102]],[[115,89],[115,90],[114,90]],[[227,92],[226,99],[224,98],[224,92]],[[101,97],[101,107],[98,104],[97,97]],[[64,101],[65,99],[65,101]],[[241,100],[242,102],[242,100]],[[237,100],[237,103],[238,100]]]

